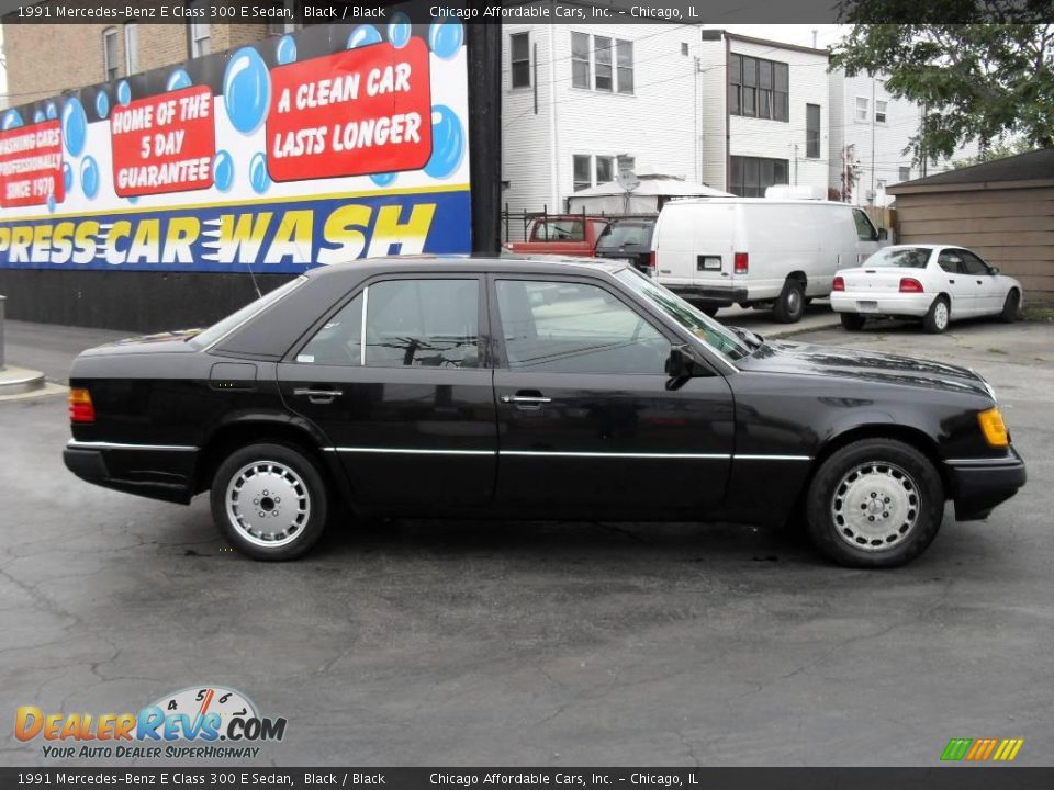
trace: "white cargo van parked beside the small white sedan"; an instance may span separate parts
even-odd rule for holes
[[[772,308],[792,324],[808,300],[831,292],[834,272],[886,244],[848,203],[699,198],[666,203],[652,236],[653,276],[714,315],[719,307]]]

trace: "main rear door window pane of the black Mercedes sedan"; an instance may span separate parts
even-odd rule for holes
[[[390,280],[367,289],[366,364],[479,365],[476,280]]]

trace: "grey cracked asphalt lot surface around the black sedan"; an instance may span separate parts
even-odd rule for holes
[[[60,381],[110,337],[10,323],[8,360]],[[731,524],[451,521],[335,526],[267,565],[224,545],[204,497],[69,474],[64,396],[0,400],[4,715],[215,684],[289,720],[254,764],[937,766],[983,736],[1051,764],[1054,324],[793,339],[976,369],[1028,486],[986,522],[949,509],[892,572]],[[3,737],[7,764],[43,761]]]

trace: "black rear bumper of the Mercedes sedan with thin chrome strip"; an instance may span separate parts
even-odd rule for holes
[[[78,442],[63,451],[66,469],[82,481],[150,499],[188,504],[198,448]]]

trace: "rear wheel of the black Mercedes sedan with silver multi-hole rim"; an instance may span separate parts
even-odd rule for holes
[[[251,505],[243,507],[249,498]],[[267,442],[234,451],[216,470],[210,501],[220,533],[254,560],[302,556],[322,537],[328,516],[318,467],[290,444]]]

